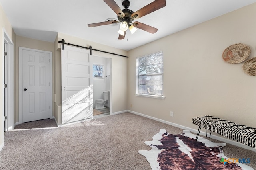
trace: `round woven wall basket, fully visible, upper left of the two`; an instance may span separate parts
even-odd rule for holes
[[[245,44],[233,44],[225,49],[222,58],[230,64],[241,63],[250,55],[251,49]]]

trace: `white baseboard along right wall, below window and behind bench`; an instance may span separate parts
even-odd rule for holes
[[[186,129],[186,130],[189,130],[190,132],[193,132],[193,133],[197,133],[197,131],[198,131],[197,129],[192,129],[192,128],[190,128],[190,127],[178,125],[178,124],[176,124],[176,123],[172,123],[172,122],[169,122],[169,121],[165,121],[165,120],[162,120],[162,119],[158,119],[158,118],[156,118],[156,117],[144,115],[144,114],[142,114],[142,113],[138,113],[138,112],[135,112],[135,111],[130,111],[130,110],[127,110],[127,111],[130,112],[130,113],[136,114],[136,115],[140,115],[140,116],[143,116],[143,117],[147,117],[147,118],[149,118],[149,119],[153,119],[153,120],[156,120],[156,121],[160,121],[160,122],[162,122],[162,123],[166,123],[166,124],[168,124],[168,125],[172,125],[172,126],[174,126],[174,127],[178,127],[178,128],[180,128],[180,129]],[[126,112],[126,111],[125,111],[125,112]],[[122,113],[124,113],[124,112],[122,112]],[[207,133],[207,134],[208,134],[208,136],[210,135],[209,133]],[[200,135],[206,136],[206,133],[200,131]],[[225,143],[229,143],[229,144],[231,144],[231,145],[235,145],[235,146],[238,146],[238,147],[241,147],[241,148],[244,148],[244,149],[248,149],[248,150],[252,150],[252,151],[256,152],[256,149],[253,149],[253,148],[251,148],[251,147],[248,147],[248,146],[246,146],[246,145],[244,145],[244,144],[242,144],[242,143],[238,143],[238,142],[236,142],[236,141],[232,141],[232,140],[230,140],[230,139],[228,139],[228,138],[225,138],[225,137],[220,137],[220,136],[217,136],[217,135],[211,135],[211,138],[212,138],[212,139],[219,140],[219,141],[222,141],[222,142],[225,142]]]

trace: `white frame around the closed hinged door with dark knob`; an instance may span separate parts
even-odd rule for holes
[[[54,116],[52,115],[52,52],[38,49],[30,49],[26,47],[19,47],[19,122],[17,124],[22,124],[22,50],[30,50],[39,53],[50,54],[50,119],[53,119]]]

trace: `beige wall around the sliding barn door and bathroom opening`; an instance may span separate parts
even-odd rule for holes
[[[66,43],[71,43],[75,45],[81,45],[84,47],[92,46],[93,49],[98,49],[102,51],[107,51],[110,53],[116,53],[120,55],[128,55],[127,51],[116,49],[114,47],[109,47],[106,45],[94,43],[87,41],[85,39],[80,39],[78,37],[72,37],[70,35],[65,35],[63,33],[58,33],[58,40],[56,39],[54,43],[54,48],[56,51],[55,55],[55,89],[56,89],[56,106],[61,105],[61,58],[60,58],[60,47],[61,44],[58,41],[65,39]],[[92,51],[92,55],[112,58],[112,113],[119,111],[124,111],[127,109],[127,96],[128,96],[128,58],[121,57],[118,55],[112,55],[107,53],[102,53],[98,51]],[[57,108],[57,107],[56,107]],[[55,117],[58,117],[57,121],[61,124],[61,115],[59,110],[55,110]]]

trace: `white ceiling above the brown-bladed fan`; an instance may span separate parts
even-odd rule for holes
[[[123,0],[115,0],[121,9]],[[154,0],[130,0],[134,12]],[[226,14],[256,0],[166,0],[166,6],[142,18],[158,28],[154,34],[138,29],[118,40],[118,25],[88,27],[89,23],[117,20],[103,0],[0,0],[16,35],[54,42],[57,32],[119,49],[130,50],[156,39]],[[68,43],[68,39],[66,40]]]

